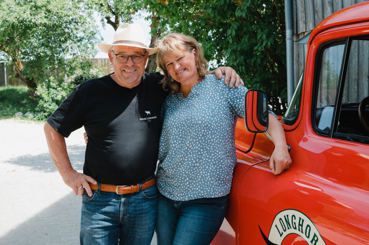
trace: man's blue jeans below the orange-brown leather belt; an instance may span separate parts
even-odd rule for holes
[[[158,189],[118,195],[93,190],[82,195],[80,244],[149,245],[154,235]]]

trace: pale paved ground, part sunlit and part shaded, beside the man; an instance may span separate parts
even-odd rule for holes
[[[51,161],[44,123],[0,120],[0,245],[79,244],[82,200]],[[82,172],[84,129],[67,139],[73,168]],[[152,245],[156,244],[154,235]]]

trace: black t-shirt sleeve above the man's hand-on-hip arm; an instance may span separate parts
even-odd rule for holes
[[[62,136],[68,138],[70,133],[83,126],[83,101],[78,94],[78,86],[63,103],[49,116],[47,122]]]

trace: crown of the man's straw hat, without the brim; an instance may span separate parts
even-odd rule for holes
[[[132,43],[146,48],[144,31],[138,24],[121,24],[113,38],[113,44],[117,43]]]

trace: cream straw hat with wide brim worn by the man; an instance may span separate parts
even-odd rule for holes
[[[145,43],[145,34],[142,28],[138,24],[121,24],[117,31],[115,31],[113,44],[98,43],[97,46],[101,51],[108,53],[113,46],[130,46],[146,49],[149,55],[152,55],[159,48],[147,48]]]

